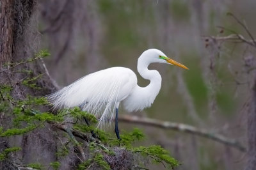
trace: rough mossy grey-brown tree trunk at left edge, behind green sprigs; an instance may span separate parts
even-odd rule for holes
[[[15,71],[32,70],[33,75],[44,73],[42,63],[38,61],[25,63],[15,68],[10,68],[10,63],[19,63],[28,58],[33,58],[38,50],[38,33],[36,30],[36,1],[32,0],[1,0],[0,1],[0,82],[1,87],[5,84],[12,86],[12,97],[24,99],[26,95],[46,95],[50,93],[54,86],[48,77],[44,77],[38,82],[37,86],[41,90],[35,90],[22,86],[20,80],[25,78],[25,74]],[[2,98],[1,98],[2,100]],[[3,98],[4,100],[4,98]],[[10,127],[12,116],[8,113],[0,113],[0,126]],[[49,165],[56,161],[56,140],[51,133],[51,128],[40,128],[25,135],[15,135],[15,137],[1,138],[0,153],[5,148],[17,146],[22,148],[19,153],[14,153],[11,160],[2,161],[0,169],[15,169],[19,165],[40,162]]]

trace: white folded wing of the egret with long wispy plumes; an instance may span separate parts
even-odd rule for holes
[[[116,69],[100,70],[52,93],[47,98],[54,108],[79,106],[99,117],[99,125],[114,114],[122,84],[122,72]]]

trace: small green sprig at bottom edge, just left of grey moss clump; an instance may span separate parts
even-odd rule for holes
[[[97,153],[93,158],[88,158],[88,160],[81,162],[79,164],[78,169],[87,169],[93,164],[97,164],[100,168],[99,169],[110,169],[110,166],[106,160],[104,160],[104,157],[102,154]]]

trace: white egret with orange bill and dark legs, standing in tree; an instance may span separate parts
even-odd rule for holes
[[[47,98],[54,108],[79,106],[82,111],[94,114],[99,117],[98,127],[115,115],[115,133],[120,139],[120,102],[129,112],[143,110],[152,105],[161,88],[161,75],[157,70],[148,70],[150,63],[166,63],[188,69],[166,57],[161,50],[148,49],[138,58],[137,66],[141,77],[150,81],[146,87],[138,86],[136,74],[131,69],[116,66],[90,73]]]

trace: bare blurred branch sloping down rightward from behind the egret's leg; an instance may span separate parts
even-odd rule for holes
[[[231,146],[233,148],[236,148],[237,150],[246,151],[246,148],[244,148],[244,146],[238,143],[235,139],[229,139],[228,137],[225,137],[223,135],[214,134],[207,130],[199,129],[183,123],[173,123],[169,121],[160,121],[160,120],[154,120],[150,118],[140,118],[138,116],[129,116],[129,115],[120,116],[118,120],[127,122],[127,123],[137,123],[140,125],[147,125],[150,127],[166,128],[166,129],[177,130],[180,132],[186,132],[189,134],[199,135],[201,137],[206,137],[208,139],[217,141],[218,143]]]

